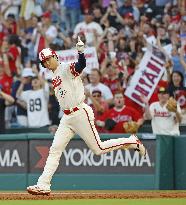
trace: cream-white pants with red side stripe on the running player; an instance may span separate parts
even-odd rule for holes
[[[110,139],[102,142],[94,125],[93,110],[83,103],[78,111],[70,115],[63,115],[50,147],[44,171],[38,179],[38,186],[50,189],[50,182],[59,165],[61,154],[75,133],[96,155],[117,150],[125,145],[136,144],[136,141],[130,138]]]

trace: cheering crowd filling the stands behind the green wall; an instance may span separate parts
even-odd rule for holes
[[[150,119],[153,133],[180,134],[186,124],[186,1],[179,0],[1,0],[0,133],[58,125],[63,112],[38,52],[72,49],[77,36],[97,52],[99,66],[83,72],[82,80],[99,132],[125,133],[124,122],[140,127]],[[167,58],[151,98],[141,95],[142,107],[124,92],[149,39]],[[175,112],[166,109],[170,96]]]

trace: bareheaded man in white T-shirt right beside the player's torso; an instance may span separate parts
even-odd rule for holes
[[[93,90],[100,90],[101,93],[103,93],[103,99],[106,100],[108,103],[112,102],[113,95],[109,87],[104,85],[103,83],[100,82],[101,80],[101,73],[98,69],[94,68],[91,70],[90,76],[90,83],[85,86],[87,90],[92,94]],[[89,99],[89,104],[90,104],[90,99]]]

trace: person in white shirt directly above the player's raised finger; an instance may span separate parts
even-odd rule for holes
[[[85,11],[84,21],[76,25],[74,29],[75,38],[80,32],[85,34],[86,43],[88,46],[94,45],[95,38],[100,37],[103,33],[101,26],[93,21],[93,14],[90,10]]]

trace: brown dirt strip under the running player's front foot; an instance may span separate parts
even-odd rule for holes
[[[142,199],[186,198],[184,191],[77,191],[52,192],[50,196],[33,196],[26,192],[0,193],[0,200],[56,200],[56,199]]]

